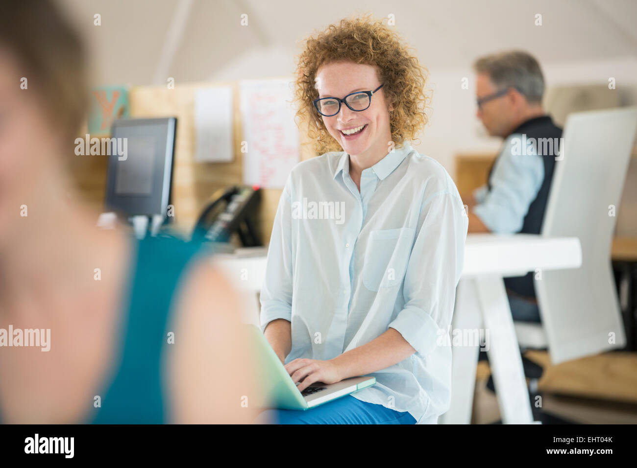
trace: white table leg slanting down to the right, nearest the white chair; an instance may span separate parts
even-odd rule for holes
[[[520,348],[500,276],[475,278],[485,330],[489,332],[489,364],[503,424],[533,423]]]

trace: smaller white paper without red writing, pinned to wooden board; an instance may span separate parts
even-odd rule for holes
[[[233,160],[233,89],[197,89],[194,95],[197,162]]]

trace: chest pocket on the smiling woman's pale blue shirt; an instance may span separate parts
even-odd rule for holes
[[[373,230],[365,252],[362,283],[370,291],[399,285],[412,253],[415,229]]]

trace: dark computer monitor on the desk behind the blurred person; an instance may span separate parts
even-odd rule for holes
[[[126,216],[166,216],[171,202],[177,119],[113,122],[104,204]]]

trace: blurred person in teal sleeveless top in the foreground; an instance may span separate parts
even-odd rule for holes
[[[54,3],[3,2],[0,71],[1,422],[250,422],[227,281],[195,245],[98,229],[69,183],[87,70]],[[10,328],[50,330],[49,349]]]

